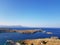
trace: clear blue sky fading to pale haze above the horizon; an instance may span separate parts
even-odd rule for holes
[[[0,25],[60,27],[60,0],[0,0]]]

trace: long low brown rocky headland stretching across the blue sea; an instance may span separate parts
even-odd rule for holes
[[[7,33],[7,32],[18,32],[21,34],[32,34],[36,32],[43,32],[43,30],[10,30],[10,29],[0,29],[0,33]]]

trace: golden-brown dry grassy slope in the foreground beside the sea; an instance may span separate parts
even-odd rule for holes
[[[24,40],[26,45],[60,45],[59,39],[33,39],[33,40]]]

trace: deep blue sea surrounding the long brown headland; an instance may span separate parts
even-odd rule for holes
[[[28,30],[28,29],[38,29],[38,28],[11,28],[15,30]],[[40,28],[39,28],[40,29]],[[57,36],[60,38],[60,28],[41,28],[46,32],[52,32],[53,34],[45,34],[41,32],[33,34],[21,34],[21,33],[0,33],[0,45],[4,45],[6,40],[25,40],[25,39],[38,39],[38,38],[50,38],[51,36]]]

